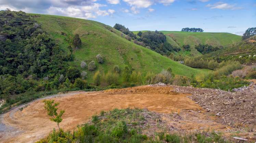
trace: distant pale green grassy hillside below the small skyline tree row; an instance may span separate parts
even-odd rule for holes
[[[142,31],[143,32],[143,31]],[[183,45],[190,45],[191,52],[179,52],[181,54],[201,54],[194,47],[198,44],[208,44],[211,46],[227,47],[231,44],[236,44],[241,41],[241,36],[231,33],[213,33],[213,32],[180,32],[180,31],[161,31],[171,39],[169,43],[173,46],[179,46],[182,49]],[[138,33],[138,31],[134,31]]]

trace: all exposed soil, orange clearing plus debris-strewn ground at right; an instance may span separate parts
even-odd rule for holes
[[[222,94],[219,95],[219,92],[222,92]],[[255,122],[253,120],[254,114],[247,116],[247,112],[255,113],[255,102],[254,104],[250,104],[250,106],[254,105],[253,110],[247,109],[248,111],[245,111],[244,108],[236,109],[239,110],[238,115],[240,111],[246,112],[245,116],[248,119],[243,119],[243,121],[244,124],[248,122],[248,124],[251,125],[251,132],[230,127],[227,121],[230,121],[229,117],[233,116],[231,111],[238,108],[238,106],[240,107],[243,103],[233,103],[233,100],[226,97],[229,96],[229,94],[235,96],[235,99],[237,99],[235,101],[240,101],[241,98],[236,97],[238,95],[224,93],[220,90],[165,86],[162,84],[100,92],[67,93],[48,98],[59,102],[59,109],[65,110],[63,121],[60,124],[64,130],[75,129],[77,125],[88,122],[92,115],[99,114],[102,110],[109,111],[115,108],[146,108],[159,115],[161,122],[159,122],[158,127],[161,127],[161,123],[165,124],[166,126],[163,126],[163,128],[168,131],[195,132],[217,130],[232,135],[231,133],[233,131],[242,130],[244,134],[240,134],[240,137],[245,137],[250,140],[256,139]],[[222,96],[223,99],[218,98],[220,96]],[[195,100],[196,103],[188,97]],[[230,112],[229,114],[231,115],[229,116],[223,111],[223,106],[220,106],[223,105],[222,102],[210,104],[210,101],[215,102],[215,100],[210,99],[222,99],[221,101],[225,100],[224,102],[226,103],[226,98],[232,103],[226,105],[229,108],[225,108],[226,112]],[[243,102],[248,104],[251,101],[249,98],[251,98],[251,95],[249,95],[248,99],[246,97],[246,101]],[[207,102],[203,99],[207,99]],[[208,109],[202,109],[199,104],[203,108],[206,107],[204,104],[210,106],[208,108],[211,111],[207,112]],[[233,105],[234,108],[231,105]],[[46,137],[53,128],[57,128],[57,125],[49,120],[49,116],[43,108],[42,99],[31,102],[28,106],[23,105],[23,107],[23,110],[19,110],[21,107],[18,107],[1,115],[0,127],[1,125],[4,127],[4,129],[0,130],[0,140],[2,142],[34,142]],[[219,113],[220,116],[216,116],[215,112],[219,110],[222,110],[222,112]],[[225,115],[227,115],[227,119]],[[225,118],[222,119],[222,117]],[[151,117],[148,116],[147,118]],[[231,122],[230,125],[232,126],[236,121],[240,122],[240,118]],[[156,125],[156,123],[150,122],[149,124]],[[244,124],[242,124],[241,127],[244,127]],[[156,130],[144,130],[144,133],[151,135],[154,131]]]

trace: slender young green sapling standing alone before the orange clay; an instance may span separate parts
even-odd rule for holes
[[[50,120],[53,122],[56,122],[58,127],[59,127],[59,131],[61,131],[60,129],[60,123],[62,121],[61,116],[64,114],[64,110],[61,110],[60,113],[57,113],[58,108],[56,108],[56,106],[59,106],[59,103],[54,103],[54,100],[43,100],[44,102],[44,109],[47,110],[47,114],[49,116],[51,116]],[[60,132],[61,133],[61,132]]]

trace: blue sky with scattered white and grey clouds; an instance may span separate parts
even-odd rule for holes
[[[256,27],[256,0],[0,0],[0,10],[77,17],[131,31],[202,28],[242,35]]]

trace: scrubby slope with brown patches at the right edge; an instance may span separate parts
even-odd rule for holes
[[[214,57],[219,60],[236,60],[241,63],[250,63],[256,61],[256,36],[250,37],[238,44],[227,48],[205,54],[204,57]]]

